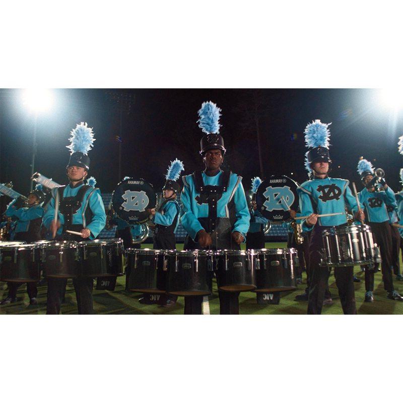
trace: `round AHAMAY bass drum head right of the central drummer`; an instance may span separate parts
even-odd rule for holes
[[[290,219],[288,207],[294,211],[298,210],[297,187],[297,182],[284,175],[273,175],[264,180],[256,191],[258,211],[270,221]]]

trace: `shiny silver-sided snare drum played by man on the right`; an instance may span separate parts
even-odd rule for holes
[[[328,267],[373,264],[376,248],[368,225],[328,228],[322,232],[323,260]]]

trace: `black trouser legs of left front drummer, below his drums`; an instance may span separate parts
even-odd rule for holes
[[[47,278],[47,315],[58,315],[60,305],[64,297],[67,279]],[[74,290],[76,291],[77,308],[80,315],[90,315],[93,311],[92,290],[94,288],[94,279],[76,278],[73,279]]]

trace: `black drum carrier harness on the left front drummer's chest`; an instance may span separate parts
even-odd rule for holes
[[[66,186],[59,186],[57,188],[57,192],[59,193],[59,211],[64,217],[64,225],[63,225],[63,232],[62,232],[62,237],[63,239],[75,239],[76,236],[66,233],[67,230],[70,231],[76,231],[80,232],[83,228],[86,227],[86,223],[90,223],[94,214],[92,213],[91,209],[88,209],[88,205],[90,203],[90,198],[92,193],[96,190],[96,188],[93,189],[92,192],[87,197],[86,205],[83,210],[82,214],[82,219],[83,223],[82,224],[73,224],[73,215],[76,214],[82,204],[84,203],[84,196],[87,192],[88,189],[90,189],[92,186],[90,185],[83,185],[80,187],[79,191],[75,196],[67,196],[63,197],[63,192],[64,188]]]

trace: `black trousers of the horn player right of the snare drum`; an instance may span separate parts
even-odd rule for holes
[[[388,292],[393,291],[392,279],[392,233],[391,227],[387,221],[384,223],[367,223],[371,227],[374,242],[379,246],[381,252],[381,270],[384,289]],[[365,289],[374,290],[374,274],[378,270],[379,263],[375,264],[373,270],[365,267]]]

